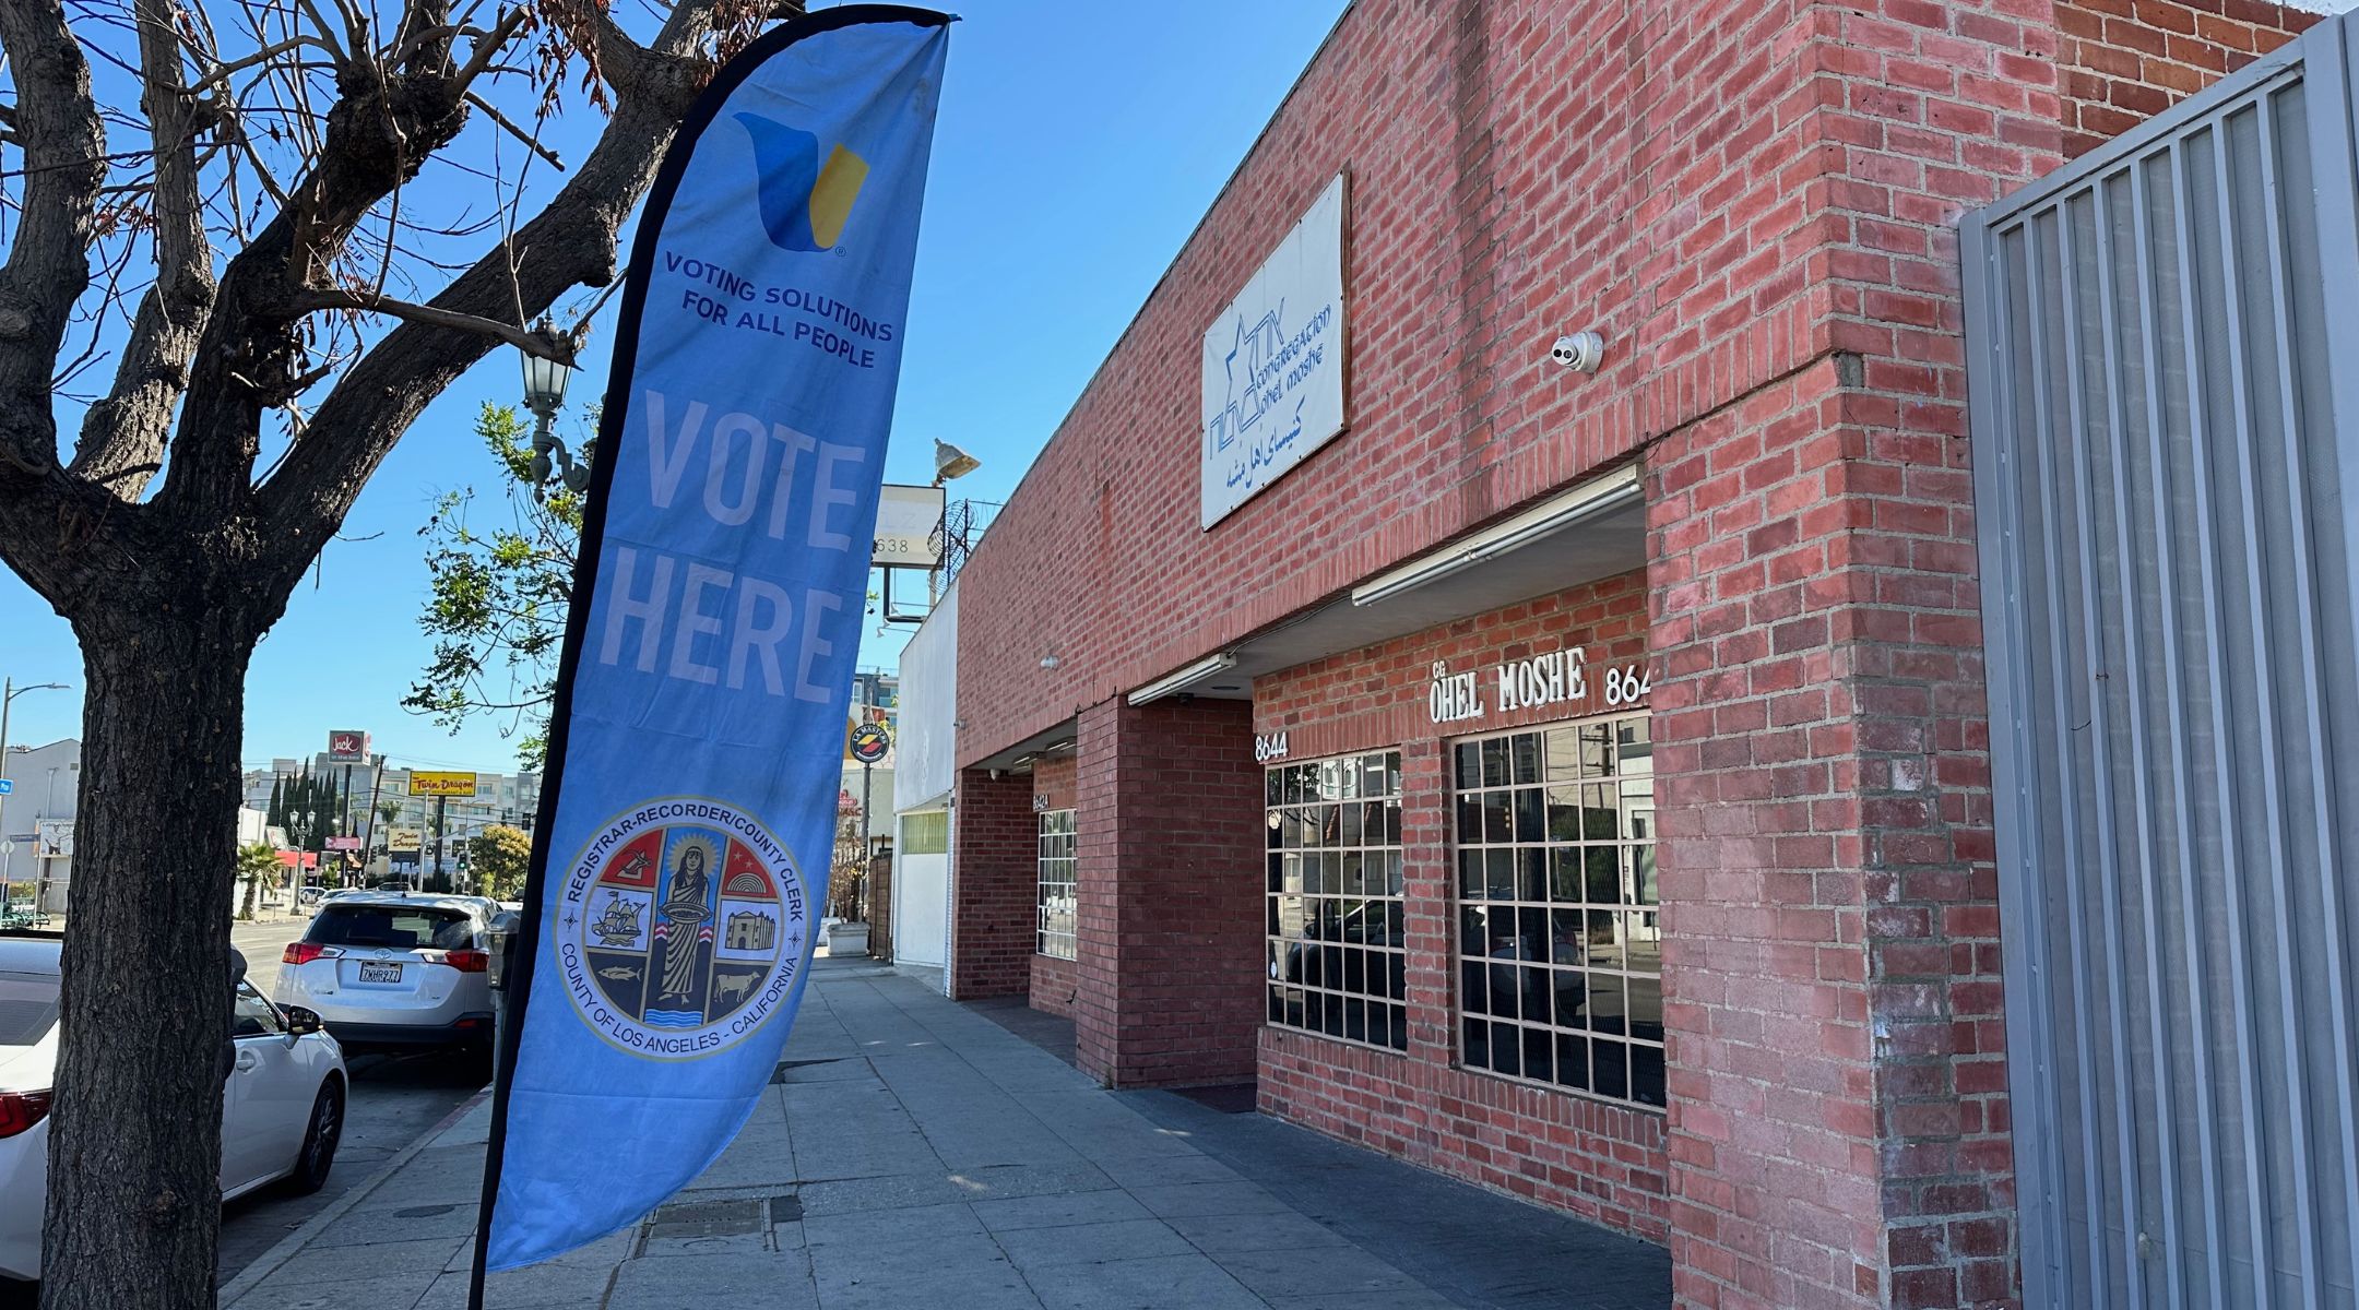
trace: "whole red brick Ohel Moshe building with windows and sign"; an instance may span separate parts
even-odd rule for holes
[[[948,990],[1682,1308],[2010,1303],[1956,219],[2307,21],[1359,0],[960,575]]]

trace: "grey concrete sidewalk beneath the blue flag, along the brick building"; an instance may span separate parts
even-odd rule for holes
[[[467,1301],[488,1105],[231,1284],[231,1310]],[[495,1275],[602,1310],[1658,1310],[1661,1249],[1172,1093],[1109,1093],[970,1006],[816,961],[778,1084],[632,1232]]]

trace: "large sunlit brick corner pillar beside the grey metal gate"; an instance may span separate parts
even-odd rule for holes
[[[1682,1310],[2015,1286],[1972,490],[1897,415],[1828,356],[1651,455]]]

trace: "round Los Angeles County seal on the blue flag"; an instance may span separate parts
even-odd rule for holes
[[[557,966],[613,1046],[696,1060],[793,997],[809,924],[786,846],[724,801],[670,796],[609,822],[566,869]]]

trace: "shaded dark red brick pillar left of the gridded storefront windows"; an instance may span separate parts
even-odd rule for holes
[[[1262,768],[1243,700],[1080,714],[1080,1067],[1248,1079],[1262,1025]]]

